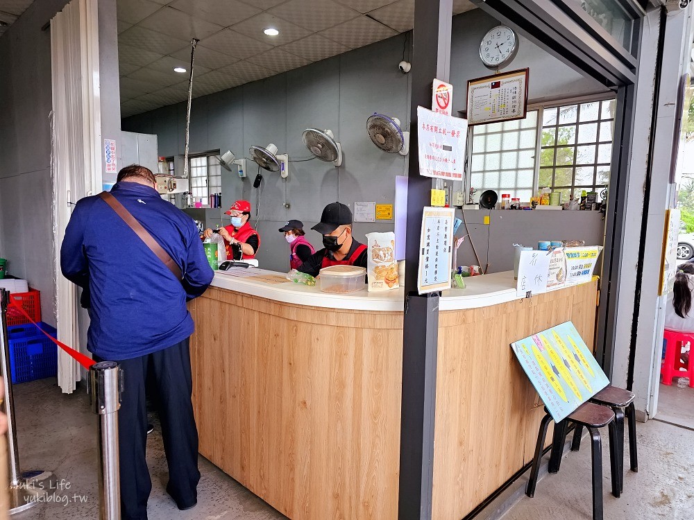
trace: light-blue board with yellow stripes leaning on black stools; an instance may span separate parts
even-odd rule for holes
[[[511,349],[555,422],[609,384],[572,322],[511,343]]]

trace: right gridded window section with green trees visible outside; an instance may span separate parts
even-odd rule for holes
[[[596,191],[598,202],[609,183],[615,101],[545,108],[542,114],[539,187],[571,195]]]

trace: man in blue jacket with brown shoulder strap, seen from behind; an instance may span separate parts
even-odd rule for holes
[[[83,288],[83,304],[89,301],[87,349],[124,371],[118,421],[123,520],[147,518],[148,374],[160,403],[167,492],[180,510],[196,505],[200,480],[188,344],[193,320],[186,302],[205,292],[214,273],[193,219],[162,200],[155,186],[148,168],[127,166],[111,194],[169,253],[183,279],[98,196],[77,202],[60,250],[62,274]]]

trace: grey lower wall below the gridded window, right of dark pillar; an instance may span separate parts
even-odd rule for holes
[[[484,269],[489,262],[489,272],[513,270],[514,244],[537,248],[541,240],[583,240],[586,245],[603,243],[604,220],[600,211],[466,209],[464,213],[467,230],[461,224],[456,236],[468,233],[470,236],[458,249],[459,266],[480,265]],[[456,216],[462,219],[462,212],[456,211]],[[489,225],[484,224],[485,216],[490,217]],[[477,263],[473,244],[481,264]]]

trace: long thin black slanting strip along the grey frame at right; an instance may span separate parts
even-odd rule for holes
[[[653,177],[653,154],[655,134],[658,122],[658,103],[660,102],[660,83],[663,76],[663,55],[665,54],[665,28],[668,21],[666,8],[660,8],[660,34],[658,35],[658,54],[655,65],[655,86],[653,92],[653,108],[651,113],[650,143],[648,144],[648,166],[643,184],[643,218],[641,218],[641,236],[638,243],[638,259],[636,261],[636,289],[634,292],[634,316],[632,318],[632,335],[629,340],[629,367],[627,368],[627,390],[634,386],[634,364],[636,363],[636,335],[638,331],[638,313],[641,310],[641,286],[643,280],[643,257],[646,250],[646,232],[648,228],[648,207],[650,206],[650,190]]]

